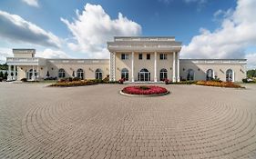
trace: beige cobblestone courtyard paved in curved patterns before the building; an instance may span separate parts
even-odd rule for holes
[[[0,83],[0,158],[256,158],[256,84],[124,86]]]

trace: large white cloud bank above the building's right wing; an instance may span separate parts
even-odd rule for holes
[[[220,28],[200,29],[181,50],[183,58],[244,58],[244,50],[256,45],[256,1],[238,0],[234,11],[224,13]]]

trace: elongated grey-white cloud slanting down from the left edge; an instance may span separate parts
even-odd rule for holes
[[[61,40],[51,32],[31,22],[26,21],[19,15],[11,15],[0,10],[0,35],[10,41],[60,47]]]

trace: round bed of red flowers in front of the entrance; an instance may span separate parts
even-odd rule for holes
[[[138,94],[138,95],[156,95],[156,94],[169,94],[166,88],[155,85],[138,85],[127,86],[121,93],[124,94]]]

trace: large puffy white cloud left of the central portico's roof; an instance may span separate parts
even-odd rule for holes
[[[129,20],[121,13],[118,19],[111,19],[101,5],[85,6],[85,10],[70,23],[61,18],[73,35],[75,42],[68,43],[69,48],[87,54],[88,58],[108,57],[107,41],[115,35],[140,35],[141,26]]]

